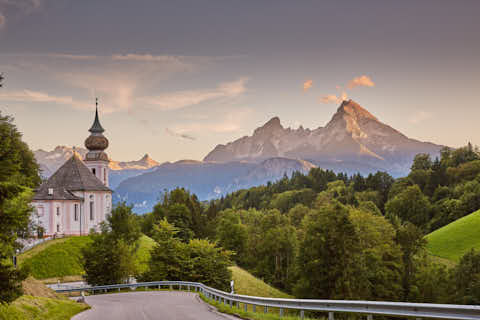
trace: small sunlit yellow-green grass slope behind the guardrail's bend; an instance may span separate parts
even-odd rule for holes
[[[238,294],[245,294],[257,297],[270,298],[293,298],[292,296],[275,289],[252,274],[239,267],[230,267],[233,281],[235,282],[235,291]]]

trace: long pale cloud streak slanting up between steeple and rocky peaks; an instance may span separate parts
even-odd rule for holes
[[[214,89],[176,91],[145,97],[141,100],[156,109],[177,110],[210,100],[235,98],[246,91],[246,82],[246,78],[240,78],[236,81],[221,83]]]

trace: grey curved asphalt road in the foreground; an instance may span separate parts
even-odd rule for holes
[[[147,291],[85,297],[92,308],[73,320],[226,320],[193,292]]]

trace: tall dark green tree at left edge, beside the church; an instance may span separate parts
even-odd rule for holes
[[[2,81],[0,74],[0,87]],[[22,141],[13,118],[0,113],[0,303],[22,294],[21,281],[28,271],[14,269],[11,259],[19,247],[18,236],[32,231],[30,200],[32,189],[39,184],[33,152]]]

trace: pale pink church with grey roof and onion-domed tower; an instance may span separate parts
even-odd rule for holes
[[[98,118],[85,140],[88,153],[81,159],[75,151],[35,192],[33,221],[43,228],[43,236],[86,235],[99,230],[112,209],[112,190],[108,186],[108,139]]]

